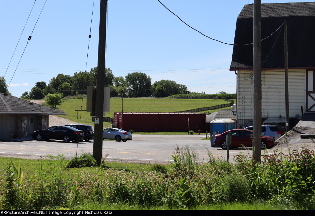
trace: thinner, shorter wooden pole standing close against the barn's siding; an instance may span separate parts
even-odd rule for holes
[[[288,40],[287,40],[287,20],[284,20],[284,82],[285,82],[285,132],[288,132],[289,119],[289,78],[288,78]],[[287,126],[288,124],[288,126]]]

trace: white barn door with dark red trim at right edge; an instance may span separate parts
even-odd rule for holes
[[[307,70],[306,73],[306,110],[315,113],[315,71]]]

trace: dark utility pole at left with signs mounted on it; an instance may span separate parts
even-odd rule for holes
[[[106,13],[107,0],[100,1],[100,34],[97,60],[97,80],[95,96],[95,116],[99,117],[99,124],[94,124],[93,157],[100,165],[103,153],[103,113],[104,113],[104,73],[106,46]]]

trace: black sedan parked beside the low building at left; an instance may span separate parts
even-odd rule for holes
[[[63,140],[64,142],[76,142],[84,139],[82,130],[70,126],[52,126],[46,130],[36,130],[32,137],[37,140]]]

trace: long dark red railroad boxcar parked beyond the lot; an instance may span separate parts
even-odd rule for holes
[[[189,122],[188,122],[189,119]],[[114,113],[117,128],[145,131],[206,131],[204,113]]]

